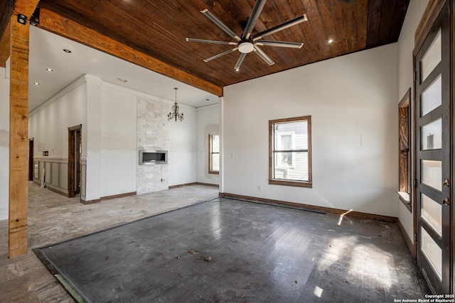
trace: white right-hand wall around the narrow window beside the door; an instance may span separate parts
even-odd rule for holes
[[[412,50],[414,50],[414,35],[419,25],[420,19],[423,16],[429,0],[410,1],[410,5],[407,9],[405,22],[403,23],[400,38],[398,39],[398,96],[397,101],[400,101],[410,87],[412,88],[411,96],[411,116],[414,116],[414,84],[413,74],[414,67],[412,65]],[[412,127],[414,129],[414,119],[411,119]],[[411,136],[412,137],[412,136]],[[412,138],[411,138],[412,139]],[[411,140],[411,150],[414,150],[414,140]],[[414,161],[414,158],[410,159]],[[412,172],[411,172],[412,173]],[[398,198],[397,198],[397,201]],[[401,202],[398,203],[398,219],[405,227],[405,230],[410,237],[411,241],[414,241],[414,228],[413,228],[413,214],[407,210],[406,206]]]

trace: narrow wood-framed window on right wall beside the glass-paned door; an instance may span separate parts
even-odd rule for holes
[[[400,109],[400,124],[399,129],[399,157],[398,157],[398,170],[399,170],[399,185],[398,195],[400,201],[405,204],[407,209],[411,211],[411,190],[410,190],[410,103],[411,103],[411,89],[407,91],[405,97],[402,98],[398,107]],[[431,138],[433,138],[431,136]],[[432,143],[432,142],[431,142]]]

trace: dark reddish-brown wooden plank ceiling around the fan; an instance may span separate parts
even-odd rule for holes
[[[239,52],[210,62],[204,59],[233,48],[187,42],[186,38],[232,41],[200,13],[208,9],[237,35],[255,0],[41,0],[47,9],[119,43],[224,87],[331,57],[398,40],[410,0],[268,0],[252,35],[306,13],[308,21],[267,40],[303,42],[301,49],[262,46],[275,64],[249,53],[239,71]],[[333,43],[328,43],[333,39]],[[92,45],[94,46],[94,45]]]

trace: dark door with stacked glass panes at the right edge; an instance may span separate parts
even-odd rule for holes
[[[415,57],[417,262],[438,294],[450,292],[449,2]]]

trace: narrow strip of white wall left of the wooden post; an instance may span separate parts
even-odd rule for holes
[[[9,209],[9,77],[0,67],[0,220]]]

